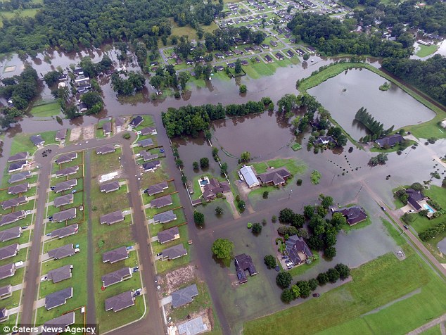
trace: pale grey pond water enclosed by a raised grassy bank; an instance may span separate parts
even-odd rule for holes
[[[354,139],[367,134],[355,121],[359,108],[367,108],[375,120],[387,129],[416,125],[435,117],[435,113],[409,96],[400,87],[392,85],[388,91],[379,87],[386,82],[383,77],[366,69],[352,69],[337,75],[308,90],[333,118]]]

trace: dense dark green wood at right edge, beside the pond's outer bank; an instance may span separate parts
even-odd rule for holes
[[[393,75],[413,84],[440,103],[446,104],[445,56],[435,55],[426,61],[386,58],[382,65]]]

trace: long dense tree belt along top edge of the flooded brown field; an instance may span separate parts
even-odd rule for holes
[[[198,137],[198,133],[210,127],[211,120],[219,120],[228,116],[242,116],[250,113],[263,113],[271,99],[263,98],[261,101],[248,101],[240,105],[231,104],[203,106],[181,106],[180,108],[167,108],[161,118],[166,129],[167,136],[176,137],[181,135],[192,135]]]

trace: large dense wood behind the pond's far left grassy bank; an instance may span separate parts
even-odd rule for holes
[[[383,40],[381,34],[368,35],[352,32],[356,20],[344,20],[316,13],[297,13],[288,27],[297,39],[317,47],[321,53],[333,56],[339,53],[404,58],[412,53],[412,46]]]

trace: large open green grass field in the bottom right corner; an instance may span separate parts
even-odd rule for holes
[[[296,320],[305,334],[404,334],[425,324],[444,313],[446,285],[411,248],[404,252],[405,260],[388,253],[352,270],[352,282],[319,299],[246,322],[244,334],[286,334]]]

